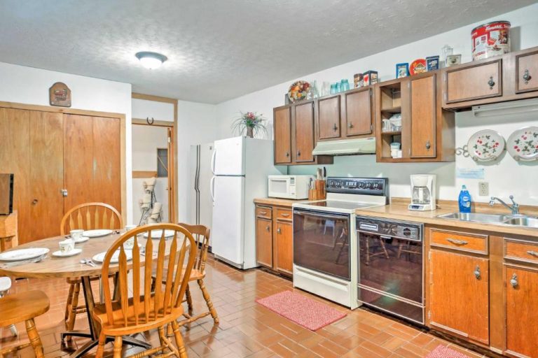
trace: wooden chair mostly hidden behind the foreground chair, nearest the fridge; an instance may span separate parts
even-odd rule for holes
[[[191,296],[191,290],[187,285],[187,289],[185,292],[186,296],[186,302],[188,306],[188,315],[186,316],[186,320],[181,320],[179,322],[179,325],[182,326],[187,323],[194,322],[195,320],[199,320],[202,317],[205,317],[207,315],[211,315],[213,318],[213,322],[215,324],[219,323],[219,315],[216,313],[216,309],[213,306],[213,303],[211,301],[211,297],[209,296],[209,292],[207,291],[207,287],[205,287],[204,279],[205,279],[205,263],[207,261],[207,250],[209,249],[209,234],[210,231],[207,227],[203,225],[189,225],[184,223],[179,223],[179,226],[184,227],[188,231],[191,231],[191,234],[195,237],[196,241],[196,247],[200,250],[198,251],[198,255],[195,257],[194,262],[194,268],[193,272],[191,273],[191,278],[189,281],[196,281],[198,282],[198,287],[200,287],[200,290],[202,291],[202,296],[205,299],[205,303],[207,304],[207,312],[200,313],[199,315],[193,316],[193,299]],[[156,275],[153,274],[153,279],[155,280]],[[165,281],[163,281],[163,284],[166,284]]]

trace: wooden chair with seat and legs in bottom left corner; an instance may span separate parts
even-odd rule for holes
[[[43,357],[43,344],[36,329],[34,317],[43,315],[49,308],[48,297],[41,291],[27,291],[18,294],[10,294],[0,299],[0,327],[8,327],[12,324],[25,321],[29,343],[7,347],[0,350],[0,358],[9,353],[32,345],[36,357]]]

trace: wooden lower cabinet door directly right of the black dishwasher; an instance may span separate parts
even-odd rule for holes
[[[429,324],[487,345],[488,259],[431,250],[429,271]]]

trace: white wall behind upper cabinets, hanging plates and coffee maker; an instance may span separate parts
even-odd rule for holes
[[[412,62],[420,57],[440,55],[443,45],[448,44],[454,48],[455,54],[462,54],[462,62],[471,61],[471,29],[477,24],[492,20],[508,20],[511,22],[511,47],[520,50],[538,46],[538,3],[525,8],[484,19],[460,27],[452,31],[425,38],[414,43],[402,45],[399,48],[357,59],[347,64],[335,66],[331,69],[312,73],[298,79],[309,81],[317,80],[318,85],[323,81],[336,82],[341,78],[348,78],[352,83],[354,73],[368,70],[379,71],[381,80],[395,77],[395,64],[399,62]],[[382,39],[380,39],[382,41]],[[297,79],[290,79],[286,83],[268,87],[265,90],[253,92],[237,99],[220,103],[216,106],[220,125],[217,136],[226,138],[231,136],[230,124],[240,111],[257,111],[263,113],[270,120],[269,133],[273,127],[273,108],[284,104],[284,94],[289,85]],[[474,119],[469,112],[456,115],[456,144],[462,146],[467,143],[471,134],[480,129],[495,129],[504,138],[511,132],[527,125],[538,125],[538,117],[520,117],[517,120],[510,118],[482,118]],[[271,135],[272,136],[272,135]],[[469,158],[457,157],[455,163],[441,164],[378,164],[372,155],[335,157],[334,164],[328,166],[330,176],[387,176],[391,183],[392,196],[410,196],[409,175],[412,173],[436,173],[439,183],[439,197],[441,199],[456,200],[457,193],[463,183],[467,184],[474,200],[488,201],[488,197],[478,196],[478,180],[462,180],[455,178],[456,168],[481,167],[485,169],[485,180],[490,183],[490,194],[507,197],[516,196],[520,203],[538,205],[538,187],[531,185],[537,178],[537,164],[518,164],[509,155],[492,165],[476,164]],[[314,173],[315,166],[293,166],[290,173]]]

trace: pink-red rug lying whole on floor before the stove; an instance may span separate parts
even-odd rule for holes
[[[312,331],[336,322],[347,315],[324,303],[291,291],[257,299],[256,302]]]

